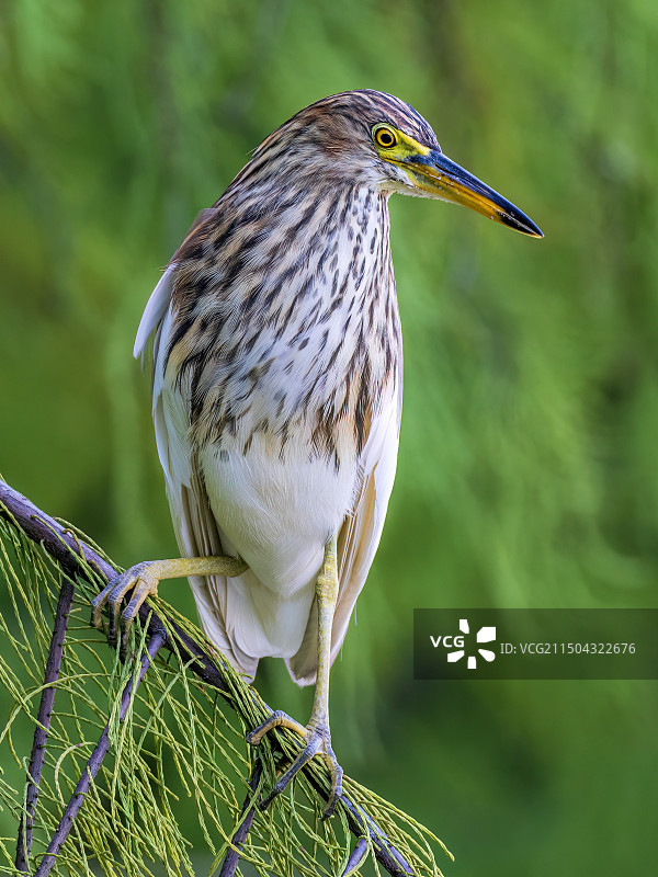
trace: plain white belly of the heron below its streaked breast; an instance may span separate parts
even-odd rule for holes
[[[352,511],[358,466],[309,459],[308,446],[291,441],[282,460],[254,436],[222,452],[200,453],[206,491],[224,548],[249,565],[227,582],[237,610],[229,635],[245,651],[290,658],[298,650],[315,596],[325,545]]]

